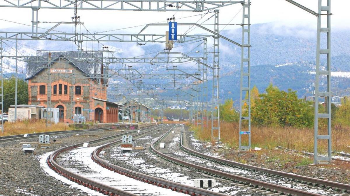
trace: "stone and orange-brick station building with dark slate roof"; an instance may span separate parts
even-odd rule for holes
[[[121,105],[107,101],[102,54],[37,51],[27,61],[28,104],[47,107],[49,95],[49,107],[59,108],[60,122],[72,123],[74,114],[92,122],[118,122]]]

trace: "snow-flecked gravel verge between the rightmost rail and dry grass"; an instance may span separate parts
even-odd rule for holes
[[[248,165],[254,165],[277,171],[294,173],[297,175],[309,176],[311,178],[318,178],[323,180],[335,181],[340,183],[350,183],[350,162],[346,161],[333,161],[332,166],[310,166],[310,165],[296,165],[293,164],[281,164],[281,160],[271,161],[268,159],[267,154],[261,154],[258,152],[239,152],[237,149],[232,149],[228,145],[216,144],[212,145],[211,142],[200,141],[195,138],[194,132],[185,126],[186,138],[188,141],[188,147],[195,151],[209,154],[210,156],[217,156],[219,158],[228,159]],[[281,149],[270,149],[276,151],[275,153],[293,153],[289,151],[283,151]],[[259,155],[260,154],[260,155]],[[294,156],[303,156],[295,154]]]

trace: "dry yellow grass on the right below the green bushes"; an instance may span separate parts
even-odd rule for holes
[[[220,133],[221,140],[228,143],[233,148],[238,148],[238,123],[221,122]],[[200,127],[192,126],[195,134],[201,140],[210,141],[211,126],[201,131]],[[251,127],[252,147],[274,148],[283,146],[285,148],[313,151],[314,148],[314,130],[312,128],[294,128],[294,127]],[[333,128],[332,129],[332,150],[350,152],[350,128]],[[243,135],[243,144],[247,144],[248,137]],[[318,151],[325,153],[327,143],[318,142]]]

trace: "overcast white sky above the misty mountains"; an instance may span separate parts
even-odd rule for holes
[[[24,0],[23,0],[24,1]],[[297,0],[304,6],[317,11],[317,0]],[[331,12],[332,15],[332,28],[335,29],[350,29],[350,16],[348,9],[350,7],[349,0],[332,0]],[[18,23],[31,25],[31,9],[29,8],[0,8],[0,19],[14,21]],[[166,21],[166,18],[172,17],[175,12],[133,12],[133,11],[101,11],[101,10],[78,10],[78,15],[81,17],[81,21],[84,22],[85,27],[91,32],[100,32],[105,30],[121,29],[126,27],[132,27],[135,25],[142,25],[147,23],[155,23]],[[238,14],[237,14],[238,13]],[[197,22],[200,19],[199,13],[195,12],[176,12],[175,18],[177,22]],[[236,17],[234,17],[237,14]],[[205,15],[201,23],[210,17],[212,13]],[[40,9],[39,21],[41,22],[60,22],[71,21],[73,16],[73,10],[59,10],[59,9]],[[189,18],[181,19],[182,17],[193,16]],[[202,15],[203,16],[203,15]],[[231,19],[233,20],[231,21]],[[223,7],[220,9],[219,23],[227,24],[239,24],[241,23],[241,5]],[[214,17],[205,21],[203,24],[205,27],[211,28],[210,24],[213,24]],[[251,23],[267,23],[276,22],[276,24],[286,25],[289,27],[316,27],[316,17],[297,8],[284,0],[252,0],[251,6]],[[54,24],[52,23],[40,23],[39,27],[49,28]],[[0,30],[19,30],[20,28],[26,28],[30,31],[31,27],[19,25],[11,22],[5,22],[0,20]],[[237,28],[235,25],[220,26],[220,30]],[[72,25],[65,25],[61,28],[72,29]],[[123,30],[110,31],[111,33],[138,33],[142,27],[128,28]],[[152,28],[146,31],[147,33],[161,33],[166,27]],[[158,31],[159,30],[159,31]],[[179,32],[186,32],[188,27],[179,27]],[[82,32],[86,30],[82,30]],[[158,32],[156,32],[158,31]],[[197,30],[192,33],[198,33]]]

